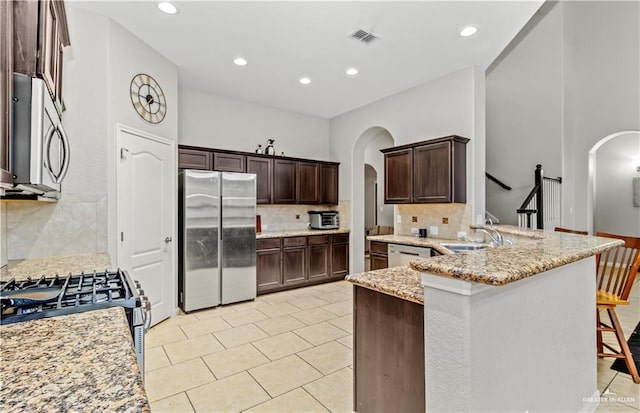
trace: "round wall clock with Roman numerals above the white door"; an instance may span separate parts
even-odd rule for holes
[[[140,73],[131,79],[131,103],[140,117],[149,123],[160,123],[167,113],[167,100],[162,88],[151,76]]]

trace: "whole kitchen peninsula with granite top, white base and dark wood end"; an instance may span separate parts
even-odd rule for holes
[[[622,241],[497,229],[514,245],[347,277],[354,410],[594,408],[594,256]]]

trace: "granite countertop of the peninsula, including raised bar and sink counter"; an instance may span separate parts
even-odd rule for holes
[[[506,226],[495,226],[495,228],[505,235],[511,234],[518,238],[514,240],[513,245],[467,251],[460,254],[445,253],[438,257],[416,259],[406,267],[350,274],[346,280],[409,301],[424,302],[420,277],[416,276],[416,273],[429,273],[500,286],[579,261],[623,244],[623,241],[612,238],[522,228],[514,229],[516,227]],[[434,238],[380,235],[371,236],[368,239],[438,249]]]

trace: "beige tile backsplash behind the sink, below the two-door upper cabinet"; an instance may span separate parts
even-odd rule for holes
[[[396,205],[396,217],[402,222],[394,224],[396,234],[411,235],[411,228],[438,227],[437,238],[455,239],[459,231],[469,234],[473,208],[470,204],[408,204]],[[416,222],[413,222],[415,217]],[[446,221],[447,223],[443,223]],[[429,231],[429,236],[431,231]]]

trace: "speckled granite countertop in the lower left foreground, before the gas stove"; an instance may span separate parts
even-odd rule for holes
[[[0,341],[0,411],[150,411],[120,307],[5,324]]]

